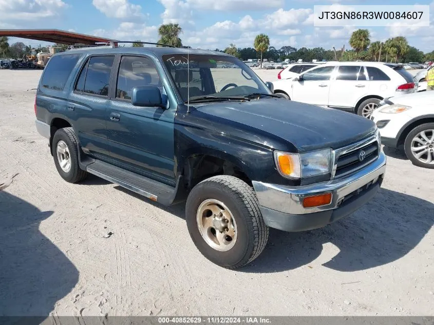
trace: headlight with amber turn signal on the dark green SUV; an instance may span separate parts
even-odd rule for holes
[[[332,149],[291,154],[274,151],[274,160],[280,175],[290,179],[308,178],[331,173]]]

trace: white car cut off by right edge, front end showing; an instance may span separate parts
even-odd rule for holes
[[[434,169],[434,91],[392,97],[372,113],[387,147],[404,147],[410,161]]]

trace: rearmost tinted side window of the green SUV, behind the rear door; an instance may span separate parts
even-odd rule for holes
[[[80,56],[81,54],[53,56],[50,61],[48,61],[48,65],[45,68],[44,76],[42,77],[42,87],[53,90],[63,90]]]

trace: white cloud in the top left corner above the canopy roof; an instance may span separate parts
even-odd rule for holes
[[[0,19],[37,21],[58,16],[67,6],[62,0],[0,0]]]

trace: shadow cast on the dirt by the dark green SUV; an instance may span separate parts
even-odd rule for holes
[[[185,219],[185,203],[165,207],[121,186],[117,189]],[[382,188],[354,214],[327,227],[300,233],[270,229],[269,242],[250,265],[248,273],[288,271],[308,265],[332,243],[340,252],[324,266],[353,272],[393,262],[408,254],[434,224],[434,204]]]

